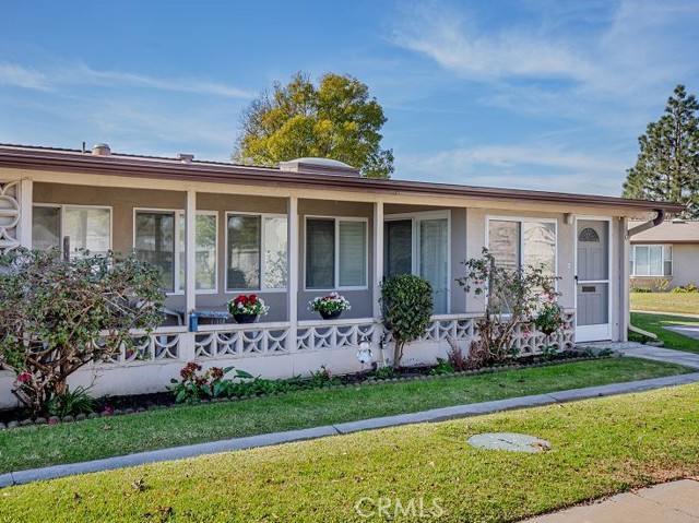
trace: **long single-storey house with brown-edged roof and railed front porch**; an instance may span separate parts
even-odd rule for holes
[[[560,277],[568,323],[559,347],[624,340],[628,312],[627,221],[679,212],[672,203],[611,197],[364,179],[347,165],[300,158],[279,168],[92,151],[0,146],[0,249],[61,246],[129,252],[159,265],[169,309],[202,314],[197,332],[164,325],[141,350],[85,368],[95,394],[163,390],[185,362],[235,365],[253,375],[360,370],[356,350],[381,350],[383,277],[412,272],[435,289],[428,333],[404,362],[434,362],[448,336],[477,338],[481,298],[457,285],[461,262],[488,247],[500,263],[543,262]],[[189,271],[188,268],[193,268]],[[323,321],[308,309],[337,290],[352,310]],[[206,323],[238,294],[264,298],[254,324]],[[524,354],[541,334],[518,333]],[[13,376],[0,371],[0,405]]]

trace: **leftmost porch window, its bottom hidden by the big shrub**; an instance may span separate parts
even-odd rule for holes
[[[95,254],[111,249],[111,209],[80,205],[35,205],[33,207],[32,246],[35,249],[62,248],[70,242],[70,255],[76,249]]]

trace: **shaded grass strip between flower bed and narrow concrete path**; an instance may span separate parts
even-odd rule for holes
[[[0,473],[688,370],[637,358],[613,358],[441,380],[295,392],[52,427],[24,427],[0,431]]]

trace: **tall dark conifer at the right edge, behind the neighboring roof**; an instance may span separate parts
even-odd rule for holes
[[[686,217],[699,217],[699,104],[675,87],[665,114],[638,139],[641,152],[627,170],[624,198],[679,202]]]

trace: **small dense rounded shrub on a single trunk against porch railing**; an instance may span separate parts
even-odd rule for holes
[[[393,335],[393,368],[399,368],[406,343],[427,332],[433,316],[433,287],[414,274],[396,274],[381,285],[383,326]]]

